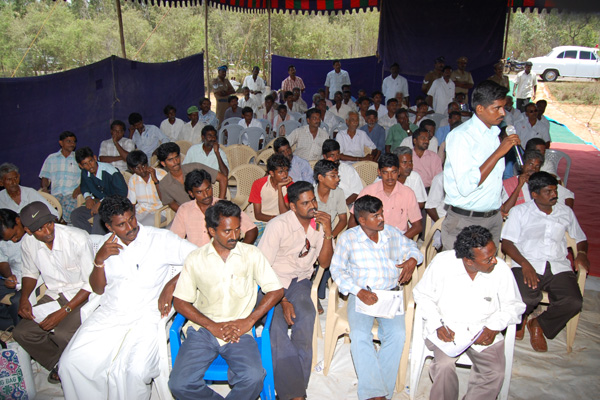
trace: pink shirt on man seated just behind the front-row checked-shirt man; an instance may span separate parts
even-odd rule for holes
[[[414,224],[423,218],[415,192],[400,182],[397,182],[392,193],[387,195],[383,190],[383,181],[377,181],[361,190],[358,198],[367,194],[377,197],[383,203],[385,223],[395,226],[403,233],[408,230],[409,221]],[[350,212],[354,213],[354,207]]]

